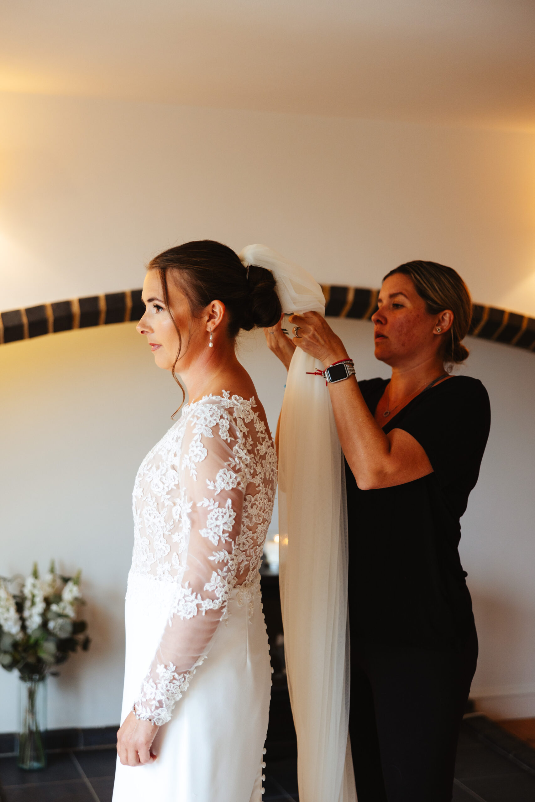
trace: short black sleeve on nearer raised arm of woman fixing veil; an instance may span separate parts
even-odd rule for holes
[[[403,429],[418,440],[442,486],[463,468],[479,472],[490,430],[490,402],[483,384],[456,376],[417,400],[392,429]]]

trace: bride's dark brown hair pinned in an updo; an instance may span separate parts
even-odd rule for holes
[[[221,242],[185,242],[158,254],[148,263],[148,269],[158,270],[168,309],[169,279],[186,295],[194,316],[211,301],[224,303],[230,338],[236,337],[240,329],[274,326],[281,317],[273,273],[255,265],[245,269],[237,253]]]

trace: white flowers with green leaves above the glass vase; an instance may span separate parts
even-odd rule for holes
[[[0,665],[18,670],[22,679],[55,674],[79,648],[87,651],[87,623],[77,618],[83,604],[80,571],[62,577],[52,561],[41,579],[37,563],[27,577],[0,577]],[[17,585],[17,589],[10,588]]]

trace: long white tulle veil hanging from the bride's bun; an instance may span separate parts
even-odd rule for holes
[[[325,314],[318,282],[265,245],[243,265],[269,269],[282,310]],[[348,738],[349,630],[345,476],[322,367],[296,348],[279,435],[279,549],[290,700],[298,736],[302,802],[355,802]]]

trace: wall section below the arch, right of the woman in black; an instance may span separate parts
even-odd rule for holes
[[[535,354],[468,338],[464,373],[481,379],[492,425],[460,557],[468,571],[480,657],[472,697],[496,718],[535,715]]]

